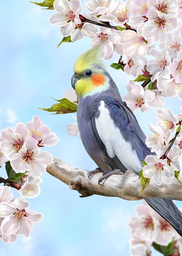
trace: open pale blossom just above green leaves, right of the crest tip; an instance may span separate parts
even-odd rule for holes
[[[154,81],[161,72],[162,77],[170,79],[168,67],[171,65],[171,57],[169,56],[169,53],[166,52],[164,55],[154,48],[152,48],[149,53],[155,58],[155,60],[149,60],[146,63],[148,72],[153,75],[151,80]]]

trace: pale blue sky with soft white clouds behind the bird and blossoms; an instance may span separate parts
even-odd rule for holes
[[[83,6],[85,2],[82,0]],[[50,107],[55,103],[51,96],[61,99],[71,88],[74,61],[91,47],[91,40],[84,38],[75,43],[64,43],[57,49],[62,40],[59,27],[48,23],[54,11],[41,10],[28,0],[2,1],[0,12],[0,129],[14,127],[17,122],[26,123],[38,115],[43,124],[60,137],[57,145],[45,150],[77,168],[95,169],[96,165],[81,140],[66,132],[66,125],[74,122],[71,114],[51,116],[37,109]],[[131,78],[109,67],[118,58],[114,55],[105,65],[123,96]],[[179,99],[165,99],[164,108],[178,113],[179,106]],[[155,125],[157,121],[155,110],[138,111],[136,116],[148,135],[148,123]],[[0,176],[5,177],[3,168],[0,172]],[[40,196],[29,201],[30,209],[44,215],[43,221],[34,225],[28,239],[20,236],[14,244],[3,244],[0,240],[0,255],[129,255],[127,223],[140,202],[97,195],[80,198],[78,192],[71,191],[48,173],[42,178]],[[15,190],[13,192],[14,197],[19,196]],[[182,208],[181,202],[176,204]],[[154,252],[153,255],[159,254]]]

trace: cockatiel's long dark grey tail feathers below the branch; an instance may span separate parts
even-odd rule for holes
[[[182,213],[172,200],[146,198],[145,201],[182,236]]]

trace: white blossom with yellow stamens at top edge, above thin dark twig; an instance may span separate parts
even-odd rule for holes
[[[106,15],[101,15],[99,20],[113,21],[116,26],[122,26],[125,23],[128,24],[132,5],[133,1],[131,0],[126,0],[126,2],[118,0],[116,5],[114,5],[115,8],[112,8]]]

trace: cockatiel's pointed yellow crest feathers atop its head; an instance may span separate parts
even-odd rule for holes
[[[88,51],[82,53],[76,60],[74,64],[74,72],[81,74],[84,70],[90,68],[92,65],[99,65],[103,69],[106,70],[106,67],[102,63],[102,60],[100,58],[102,54],[102,46],[105,43],[97,45],[96,47],[93,47],[89,49]]]

